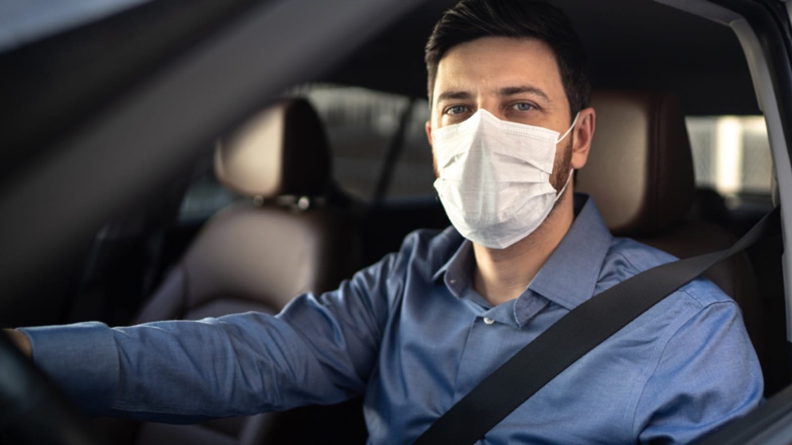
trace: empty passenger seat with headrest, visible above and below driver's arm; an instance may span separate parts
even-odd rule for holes
[[[216,176],[245,198],[206,222],[134,322],[274,314],[295,295],[352,276],[360,246],[352,218],[329,202],[330,170],[322,123],[304,99],[277,101],[223,138]],[[140,424],[130,436],[141,445],[322,443],[339,418],[364,434],[360,403],[351,401],[196,425]],[[108,434],[115,443],[120,428],[134,427],[116,422]]]

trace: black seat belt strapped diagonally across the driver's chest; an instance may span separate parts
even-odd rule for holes
[[[520,349],[432,424],[416,445],[461,445],[496,424],[596,345],[706,269],[780,230],[779,207],[729,249],[661,264],[577,306]]]

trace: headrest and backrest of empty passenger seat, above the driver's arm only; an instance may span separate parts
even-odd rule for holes
[[[351,219],[322,205],[329,146],[308,101],[279,101],[223,138],[215,171],[256,200],[213,216],[135,321],[184,318],[218,304],[276,312],[295,295],[328,291],[354,272]]]

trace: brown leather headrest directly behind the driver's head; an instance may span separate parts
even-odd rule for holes
[[[679,100],[670,93],[600,90],[596,128],[575,189],[593,196],[616,235],[651,236],[683,217],[695,193]]]

